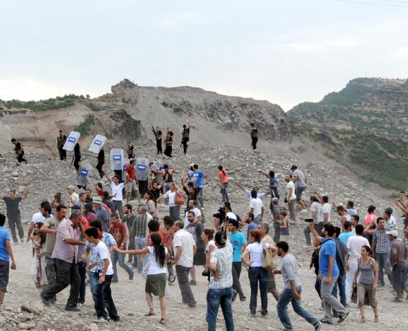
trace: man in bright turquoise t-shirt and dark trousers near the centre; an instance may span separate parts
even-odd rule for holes
[[[247,242],[245,235],[241,231],[238,231],[239,223],[237,220],[228,220],[228,231],[230,231],[230,242],[232,244],[232,288],[234,289],[234,295],[232,296],[232,302],[239,296],[239,301],[245,301],[246,297],[243,295],[241,283],[239,283],[239,276],[241,276],[242,260],[241,255],[245,249]]]

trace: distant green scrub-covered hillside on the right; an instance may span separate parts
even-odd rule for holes
[[[408,188],[408,81],[351,80],[320,102],[288,111],[293,132],[318,142],[362,178],[396,190]]]

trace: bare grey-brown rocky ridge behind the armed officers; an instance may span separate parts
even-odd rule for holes
[[[93,99],[68,95],[37,102],[0,100],[0,153],[10,150],[12,137],[28,148],[55,153],[59,129],[77,129],[83,136],[100,133],[138,139],[153,138],[152,124],[170,127],[177,142],[185,120],[198,141],[239,145],[237,136],[242,136],[248,145],[250,123],[257,124],[262,138],[290,139],[284,111],[267,101],[221,96],[193,87],[139,87],[126,79],[111,90]]]

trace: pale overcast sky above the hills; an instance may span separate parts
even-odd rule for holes
[[[95,97],[129,78],[288,110],[353,78],[408,78],[408,0],[0,4],[3,100]]]

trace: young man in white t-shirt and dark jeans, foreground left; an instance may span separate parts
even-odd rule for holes
[[[93,265],[97,266],[99,280],[98,284],[93,287],[92,296],[95,301],[95,310],[97,319],[95,322],[107,322],[107,316],[105,308],[108,311],[109,317],[112,321],[119,321],[118,311],[116,310],[115,303],[111,296],[111,282],[113,278],[113,268],[111,256],[109,255],[108,247],[98,239],[98,230],[95,228],[89,228],[85,230],[86,240],[91,244],[95,244],[93,247],[93,253],[96,257],[96,262]]]

